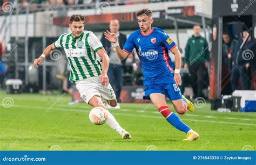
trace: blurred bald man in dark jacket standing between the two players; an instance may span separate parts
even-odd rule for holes
[[[120,24],[117,19],[113,19],[110,21],[109,24],[110,32],[117,34],[119,45],[121,48],[123,48],[125,41],[126,41],[126,35],[119,32]],[[103,47],[105,48],[107,55],[109,55],[110,64],[109,64],[109,71],[107,71],[107,76],[109,76],[109,81],[112,87],[114,88],[114,93],[117,97],[117,106],[116,109],[120,109],[120,93],[122,90],[122,84],[123,84],[123,72],[124,72],[124,65],[125,60],[121,61],[116,52],[116,48],[113,46],[113,44],[106,40],[104,37],[104,34],[102,35],[102,39],[100,40],[102,42]]]

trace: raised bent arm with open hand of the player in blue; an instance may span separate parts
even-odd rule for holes
[[[131,53],[131,52],[125,52],[120,48],[116,34],[110,33],[109,31],[105,31],[104,35],[105,35],[105,39],[114,43],[114,47],[116,47],[116,52],[120,60],[124,60]]]

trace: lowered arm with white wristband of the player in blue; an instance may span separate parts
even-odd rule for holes
[[[179,49],[174,47],[171,52],[175,55],[175,70],[174,70],[174,81],[177,85],[181,85],[181,77],[179,74],[180,67],[181,67],[181,53]]]

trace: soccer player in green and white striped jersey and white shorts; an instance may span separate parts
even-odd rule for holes
[[[72,15],[70,18],[70,34],[62,34],[57,41],[45,48],[43,54],[35,59],[34,64],[38,68],[51,51],[63,48],[70,64],[70,81],[76,83],[80,96],[87,104],[93,107],[103,107],[105,99],[110,106],[117,105],[116,95],[109,84],[107,70],[109,69],[109,56],[95,34],[84,31],[84,16]],[[96,58],[97,54],[103,62]],[[123,139],[131,138],[129,132],[122,128],[113,115],[108,111],[106,124],[116,130]]]

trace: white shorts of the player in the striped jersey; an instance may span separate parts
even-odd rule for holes
[[[100,83],[100,76],[90,77],[85,80],[76,82],[76,88],[79,91],[80,96],[88,104],[90,99],[98,95],[106,100],[116,99],[113,88],[111,85],[103,86]]]

